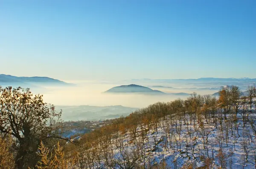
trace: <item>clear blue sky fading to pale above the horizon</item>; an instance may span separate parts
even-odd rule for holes
[[[256,77],[256,0],[0,0],[0,74]]]

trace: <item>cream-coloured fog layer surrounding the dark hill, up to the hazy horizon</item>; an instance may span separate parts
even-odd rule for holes
[[[5,76],[3,76],[5,77]],[[6,77],[8,81],[8,76]],[[17,78],[19,79],[19,78]],[[37,78],[35,78],[36,80]],[[4,82],[4,81],[3,81]],[[256,80],[232,80],[232,79],[204,79],[204,80],[151,80],[151,79],[131,79],[131,80],[70,80],[65,81],[74,85],[63,83],[36,83],[24,81],[5,84],[3,86],[21,86],[30,88],[34,94],[44,95],[44,101],[57,106],[115,106],[122,105],[134,108],[147,107],[156,102],[170,102],[175,99],[185,99],[196,92],[200,95],[212,95],[218,92],[221,86],[238,85],[241,91],[245,91],[248,85],[256,83]],[[12,85],[13,84],[13,85]],[[103,93],[115,86],[136,84],[145,86],[153,90],[159,90],[169,95],[141,94],[141,93]],[[1,83],[0,83],[1,85]],[[176,95],[171,95],[175,94]],[[181,93],[181,94],[178,94]]]

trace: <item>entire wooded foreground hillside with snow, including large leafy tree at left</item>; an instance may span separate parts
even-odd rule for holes
[[[41,95],[0,88],[0,168],[256,168],[256,87],[241,93],[226,86],[218,98],[154,103],[73,142]]]

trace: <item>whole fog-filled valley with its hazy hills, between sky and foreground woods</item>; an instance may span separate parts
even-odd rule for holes
[[[97,121],[127,116],[156,102],[185,99],[193,92],[218,96],[216,92],[221,86],[237,85],[244,92],[248,85],[256,82],[256,79],[249,78],[60,81],[49,77],[14,77],[4,74],[1,78],[3,82],[0,85],[3,87],[20,86],[30,88],[34,94],[43,95],[44,102],[54,104],[58,111],[62,109],[62,120],[65,121]]]

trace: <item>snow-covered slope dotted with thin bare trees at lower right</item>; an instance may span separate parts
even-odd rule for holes
[[[221,110],[207,115],[168,115],[155,123],[121,129],[111,135],[109,142],[104,138],[96,140],[86,153],[100,159],[92,164],[95,168],[106,169],[150,168],[157,163],[171,169],[187,165],[255,168],[255,106],[252,110],[247,109],[243,116],[241,108],[237,116],[231,113],[226,118]]]

